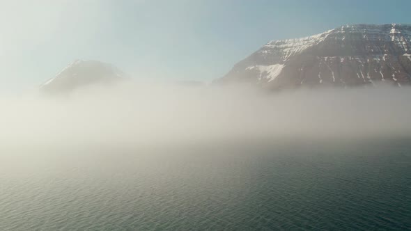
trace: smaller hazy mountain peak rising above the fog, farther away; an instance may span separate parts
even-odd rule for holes
[[[68,93],[92,84],[111,84],[125,79],[125,74],[114,65],[100,61],[76,60],[65,67],[56,77],[40,86],[46,93]]]

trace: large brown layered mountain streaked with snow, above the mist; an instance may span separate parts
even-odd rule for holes
[[[410,84],[411,25],[357,24],[306,38],[273,40],[237,63],[219,84],[270,90],[300,86]]]

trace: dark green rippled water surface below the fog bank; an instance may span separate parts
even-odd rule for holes
[[[3,154],[0,230],[410,230],[411,143]]]

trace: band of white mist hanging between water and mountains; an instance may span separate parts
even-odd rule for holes
[[[3,95],[0,148],[409,136],[410,98],[409,88],[265,94],[134,83],[65,96]]]

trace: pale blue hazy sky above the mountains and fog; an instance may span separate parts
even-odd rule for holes
[[[270,40],[344,24],[411,23],[411,1],[0,0],[0,90],[75,59],[134,78],[211,81]]]

